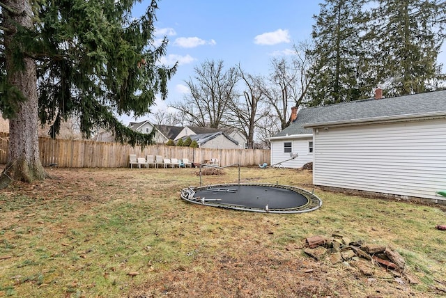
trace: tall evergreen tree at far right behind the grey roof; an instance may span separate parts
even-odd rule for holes
[[[437,63],[443,45],[446,1],[378,0],[371,28],[377,77],[387,95],[438,88],[444,79]]]

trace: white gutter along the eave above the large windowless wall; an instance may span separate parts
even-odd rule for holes
[[[337,120],[319,123],[307,123],[304,125],[305,128],[315,128],[321,126],[353,126],[362,125],[367,123],[394,123],[402,122],[407,120],[424,120],[424,119],[440,119],[446,118],[446,111],[436,111],[430,113],[412,113],[406,115],[397,116],[382,116],[382,117],[372,117],[372,118],[362,118],[362,119],[351,119],[351,120]]]

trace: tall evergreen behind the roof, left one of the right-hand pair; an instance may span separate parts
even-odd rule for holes
[[[309,70],[311,106],[347,102],[364,97],[360,76],[361,34],[367,19],[363,0],[326,0],[315,16],[312,37],[315,65]]]

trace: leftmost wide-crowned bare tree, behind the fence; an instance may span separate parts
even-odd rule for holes
[[[194,71],[194,79],[185,82],[190,94],[172,107],[178,109],[190,125],[211,128],[226,126],[224,120],[229,113],[229,104],[237,96],[237,68],[225,71],[223,61],[205,61]]]

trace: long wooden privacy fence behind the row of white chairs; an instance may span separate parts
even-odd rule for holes
[[[8,134],[0,133],[0,163],[6,164]],[[270,163],[270,150],[259,149],[208,149],[164,145],[130,146],[121,143],[106,143],[86,140],[39,138],[40,160],[43,166],[57,165],[72,168],[120,168],[128,166],[130,154],[137,157],[162,155],[164,158],[187,158],[201,162],[217,158],[220,165],[240,164],[254,166]]]

